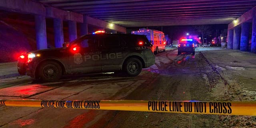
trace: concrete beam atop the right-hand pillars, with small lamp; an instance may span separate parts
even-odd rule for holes
[[[248,12],[245,12],[244,14],[242,14],[242,16],[240,16],[239,18],[237,18],[237,22],[231,22],[230,24],[228,24],[228,30],[233,29],[234,27],[247,22],[248,20],[251,20],[253,18],[253,14],[256,10],[256,7],[252,8],[251,10],[249,10]]]

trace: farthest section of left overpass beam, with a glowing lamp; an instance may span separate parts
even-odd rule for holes
[[[116,30],[118,32],[123,32],[126,33],[126,28],[122,27],[122,26],[118,26],[116,24],[112,24],[103,20],[99,20],[96,18],[92,18],[89,16],[84,16],[84,23],[87,24],[91,24],[94,26],[99,26],[99,27],[103,27],[103,28],[107,28],[107,29],[111,29],[111,30]]]

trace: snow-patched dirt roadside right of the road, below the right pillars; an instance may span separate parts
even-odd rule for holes
[[[212,90],[216,100],[256,101],[256,54],[225,49],[200,52],[225,82]],[[220,121],[225,128],[256,128],[254,116],[221,115]]]

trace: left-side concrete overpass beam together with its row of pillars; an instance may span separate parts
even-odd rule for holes
[[[81,35],[88,34],[88,24],[94,25],[101,30],[107,29],[114,33],[126,33],[125,27],[92,18],[85,14],[44,6],[44,4],[32,0],[0,0],[0,10],[34,15],[37,49],[47,48],[46,18],[54,19],[54,42],[56,48],[61,48],[64,42],[63,20],[68,21],[70,41],[77,38],[77,23],[80,23]]]

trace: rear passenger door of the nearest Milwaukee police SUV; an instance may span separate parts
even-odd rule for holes
[[[121,69],[123,48],[120,46],[120,38],[117,34],[108,34],[104,37],[104,56],[107,58],[106,63],[102,65],[104,71]]]

